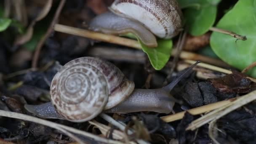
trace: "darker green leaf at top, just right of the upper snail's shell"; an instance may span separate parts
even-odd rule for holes
[[[189,33],[199,36],[208,32],[213,26],[217,5],[221,0],[178,0],[181,7],[188,7],[184,11],[186,28]]]

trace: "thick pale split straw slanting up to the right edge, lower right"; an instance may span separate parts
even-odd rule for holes
[[[235,101],[231,101],[229,104],[224,105],[212,112],[209,112],[208,114],[198,118],[197,120],[194,120],[192,123],[189,124],[186,130],[193,131],[197,128],[200,128],[202,125],[209,123],[211,121],[218,120],[224,115],[227,115],[229,112],[232,112],[233,110],[240,108],[243,105],[248,104],[254,100],[256,100],[256,91],[252,91],[251,93],[241,96],[239,97],[239,99],[236,99]]]

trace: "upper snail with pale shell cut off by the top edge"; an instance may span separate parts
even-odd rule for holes
[[[113,35],[131,32],[149,47],[157,47],[155,35],[170,39],[183,26],[176,0],[115,0],[109,10],[96,16],[89,29]]]

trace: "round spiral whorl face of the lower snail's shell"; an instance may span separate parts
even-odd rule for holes
[[[90,64],[70,61],[51,83],[51,101],[65,119],[75,122],[96,117],[108,100],[104,75]]]

